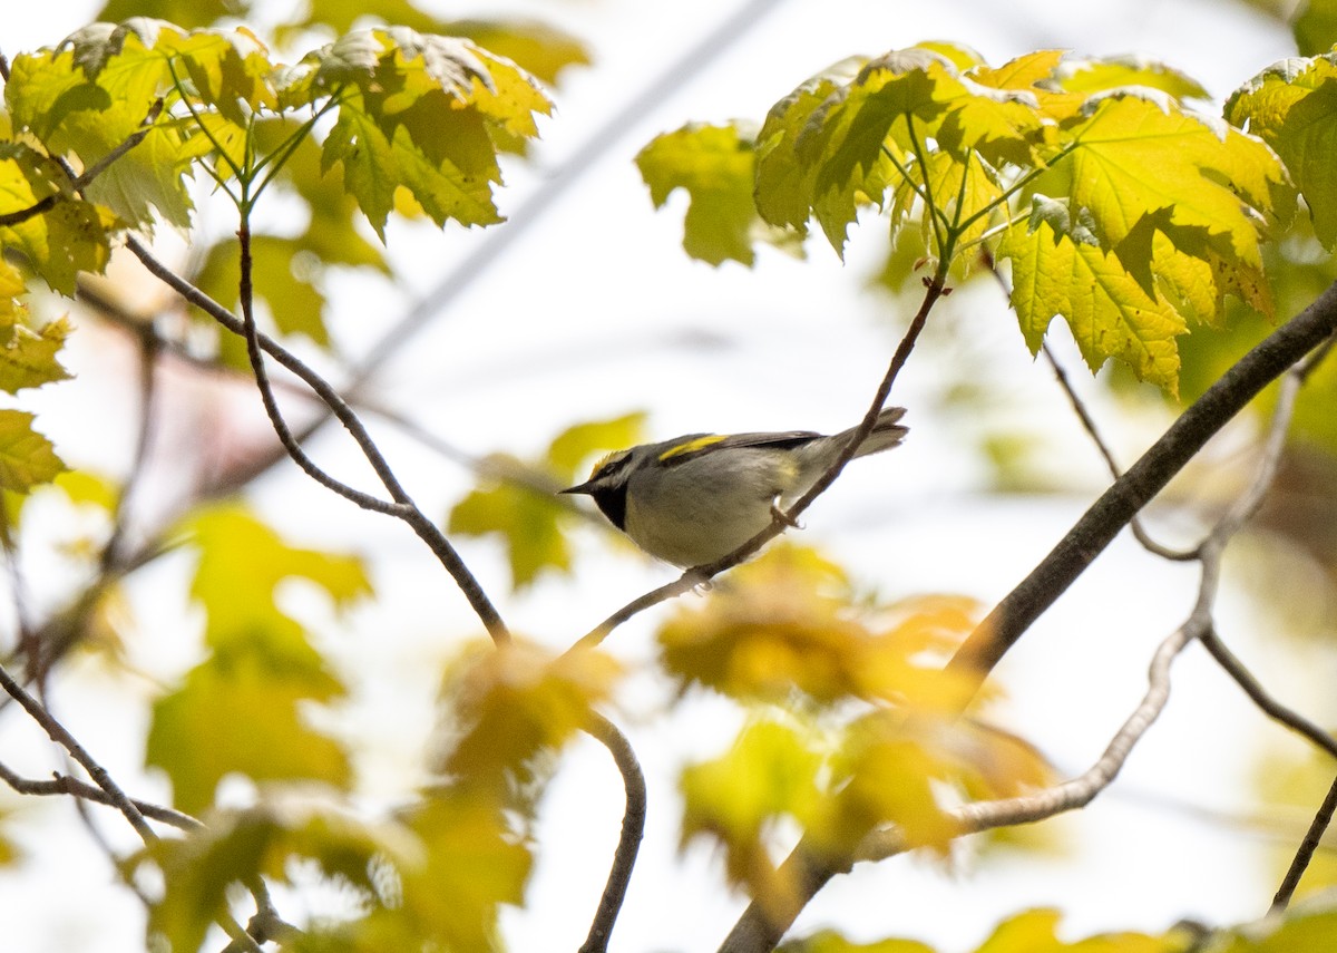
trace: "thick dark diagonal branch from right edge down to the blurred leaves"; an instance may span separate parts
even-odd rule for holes
[[[1091,506],[1054,550],[971,633],[948,669],[980,684],[1031,624],[1071,586],[1202,446],[1263,387],[1337,331],[1337,284],[1269,335],[1207,388]]]

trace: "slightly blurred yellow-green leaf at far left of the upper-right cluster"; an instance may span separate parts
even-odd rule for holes
[[[677,189],[689,194],[683,248],[710,265],[751,265],[751,238],[761,226],[753,202],[753,135],[739,124],[683,126],[656,137],[636,154],[655,207]]]

